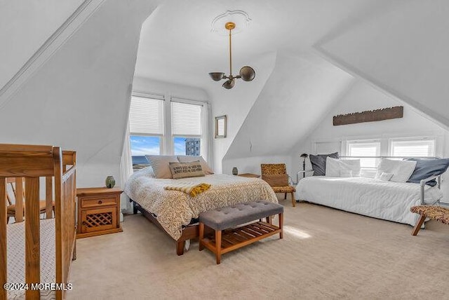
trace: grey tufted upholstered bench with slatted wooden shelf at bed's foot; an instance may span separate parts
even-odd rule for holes
[[[271,216],[279,214],[279,226],[271,222]],[[266,221],[262,221],[266,218]],[[255,221],[255,220],[259,221]],[[245,226],[250,221],[255,221]],[[215,236],[204,237],[204,226],[215,230]],[[278,203],[256,201],[217,208],[199,215],[199,250],[207,247],[215,253],[217,264],[222,254],[279,233],[283,238],[283,206]]]

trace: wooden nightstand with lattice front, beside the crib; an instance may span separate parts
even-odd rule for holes
[[[123,231],[120,225],[121,189],[76,189],[78,226],[76,238]]]

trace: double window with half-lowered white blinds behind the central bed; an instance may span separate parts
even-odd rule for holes
[[[202,102],[163,97],[131,97],[129,129],[133,169],[148,165],[145,155],[207,156],[207,111]],[[159,99],[158,99],[159,97]]]

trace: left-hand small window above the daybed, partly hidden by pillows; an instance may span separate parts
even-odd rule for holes
[[[380,140],[348,141],[346,153],[347,156],[359,157],[361,168],[377,168],[378,158],[363,158],[363,156],[380,156]]]

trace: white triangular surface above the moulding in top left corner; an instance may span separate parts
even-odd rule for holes
[[[0,88],[82,2],[0,1]]]

